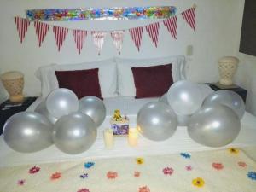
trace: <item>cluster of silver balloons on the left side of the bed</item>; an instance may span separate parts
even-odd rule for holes
[[[67,154],[79,154],[95,142],[106,108],[96,96],[78,100],[72,90],[53,90],[35,112],[20,112],[3,126],[3,139],[10,148],[32,153],[55,146]]]

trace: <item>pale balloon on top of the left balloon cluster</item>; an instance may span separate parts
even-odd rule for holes
[[[46,108],[51,115],[59,119],[63,115],[77,112],[79,109],[79,99],[72,90],[65,88],[56,89],[47,96]]]

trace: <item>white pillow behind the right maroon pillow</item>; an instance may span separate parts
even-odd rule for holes
[[[173,82],[177,82],[181,79],[186,79],[186,62],[185,57],[182,55],[143,60],[116,58],[116,62],[118,67],[118,91],[120,96],[136,95],[136,88],[134,84],[133,74],[131,72],[131,67],[148,67],[172,63]]]

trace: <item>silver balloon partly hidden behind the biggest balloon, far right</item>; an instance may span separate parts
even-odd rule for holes
[[[203,105],[212,104],[222,104],[233,109],[239,119],[241,119],[245,113],[245,105],[241,96],[231,90],[218,90],[207,96]]]

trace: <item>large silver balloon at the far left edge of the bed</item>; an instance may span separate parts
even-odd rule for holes
[[[3,140],[15,151],[32,153],[49,147],[52,124],[35,112],[20,112],[11,116],[3,126]]]

